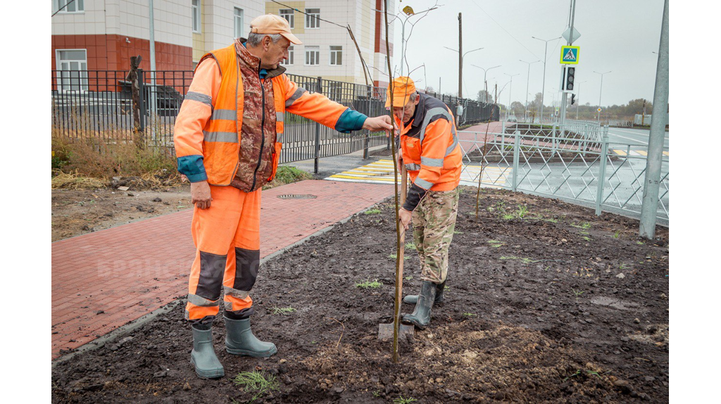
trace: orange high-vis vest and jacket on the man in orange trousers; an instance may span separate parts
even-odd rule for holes
[[[256,121],[262,120],[262,122],[252,122],[252,125],[260,126],[255,130],[257,132],[262,130],[262,136],[258,137],[260,140],[243,141],[244,95],[246,91],[257,90],[244,89],[240,70],[247,66],[241,66],[240,63],[244,61],[239,58],[248,55],[238,55],[239,48],[236,46],[242,47],[236,42],[226,48],[213,50],[198,62],[200,66],[206,58],[216,60],[221,74],[220,88],[215,99],[211,99],[208,94],[192,91],[186,94],[174,127],[174,143],[179,161],[186,156],[202,155],[208,184],[227,186],[232,182],[234,187],[252,192],[275,177],[280,161],[280,149],[283,147],[283,117],[286,109],[288,112],[307,117],[325,126],[335,127],[338,118],[347,108],[330,101],[322,94],[309,93],[306,89],[298,87],[283,73],[285,68],[279,66],[280,73],[278,74],[278,69],[275,69],[272,72],[276,75],[270,78],[273,104],[267,105],[265,110],[260,111],[261,117],[256,116]],[[247,52],[245,49],[241,51]],[[263,96],[270,92],[266,90],[263,91]],[[266,102],[268,101],[270,100],[266,99]],[[200,102],[211,107],[207,121],[197,116],[200,111],[197,104],[190,106],[186,105],[187,102]],[[258,108],[262,107],[258,106]],[[267,114],[270,110],[274,110],[275,114]],[[207,111],[207,107],[203,111]],[[252,113],[257,115],[257,111]],[[247,111],[245,115],[246,117],[249,115]],[[201,123],[205,122],[202,132],[198,130],[199,120]],[[272,125],[273,122],[275,125]],[[246,181],[239,181],[239,178]]]

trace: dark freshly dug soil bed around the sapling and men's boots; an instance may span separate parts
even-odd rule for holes
[[[180,302],[58,363],[53,402],[243,403],[254,393],[233,379],[255,370],[279,381],[256,403],[668,402],[668,230],[642,240],[637,220],[495,189],[482,190],[477,219],[475,196],[461,195],[446,302],[400,341],[397,364],[377,338],[393,314],[391,200],[261,266],[252,327],[275,356],[227,354],[218,318],[226,376],[198,379]],[[420,289],[415,251],[406,256],[404,295]]]

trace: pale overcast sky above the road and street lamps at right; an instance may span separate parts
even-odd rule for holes
[[[428,0],[403,0],[399,9],[409,5],[420,12],[435,4]],[[570,0],[438,0],[443,4],[428,13],[427,17],[410,17],[405,24],[405,34],[410,34],[410,23],[417,22],[407,42],[407,62],[410,70],[425,63],[425,79],[428,86],[438,90],[441,77],[443,93],[458,91],[458,53],[443,48],[458,49],[458,14],[463,14],[463,50],[484,48],[468,53],[464,58],[463,95],[475,99],[483,88],[482,68],[487,72],[489,91],[497,83],[499,102],[526,102],[541,92],[544,71],[544,40],[560,37],[567,29]],[[577,0],[574,27],[580,38],[574,46],[580,46],[576,73],[580,84],[580,103],[598,104],[601,75],[603,75],[601,105],[627,104],[631,99],[645,98],[653,101],[653,87],[658,45],[663,17],[663,0]],[[399,69],[401,21],[395,21],[394,62]],[[546,96],[544,104],[552,104],[560,81],[560,48],[567,45],[564,39],[548,42],[546,61]],[[531,64],[530,80],[528,64]],[[407,74],[408,69],[404,68]],[[508,82],[513,76],[513,86]],[[415,81],[424,80],[423,68],[411,73]],[[507,85],[508,84],[508,85]],[[418,85],[425,86],[422,83]],[[510,90],[510,91],[509,91]],[[556,96],[559,99],[559,96]]]

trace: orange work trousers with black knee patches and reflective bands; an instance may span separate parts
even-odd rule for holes
[[[193,211],[195,260],[190,270],[185,319],[211,323],[220,310],[226,315],[252,314],[249,292],[260,265],[260,189],[243,192],[211,185],[211,207]]]

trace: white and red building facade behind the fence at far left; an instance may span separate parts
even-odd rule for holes
[[[208,51],[249,32],[263,0],[52,0],[53,70],[151,70],[151,10],[156,71],[188,71]],[[59,10],[59,11],[58,11]]]

